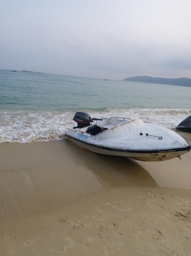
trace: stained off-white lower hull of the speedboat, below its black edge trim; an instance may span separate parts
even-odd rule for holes
[[[148,161],[148,162],[157,162],[157,161],[165,161],[165,160],[170,160],[172,158],[181,156],[184,153],[189,152],[190,150],[185,150],[185,151],[176,151],[176,152],[156,152],[156,153],[131,153],[131,152],[123,152],[123,151],[115,151],[115,150],[107,150],[99,147],[95,147],[92,145],[87,145],[84,144],[81,141],[77,141],[76,139],[73,138],[68,138],[69,141],[73,142],[74,144],[92,151],[94,153],[99,153],[103,155],[111,155],[111,156],[125,156],[129,157],[135,160],[140,160],[140,161]]]

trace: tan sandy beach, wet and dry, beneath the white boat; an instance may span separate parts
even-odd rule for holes
[[[0,255],[191,255],[190,163],[1,143]]]

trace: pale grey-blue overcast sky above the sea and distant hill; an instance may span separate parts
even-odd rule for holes
[[[0,0],[0,68],[191,78],[190,0]]]

